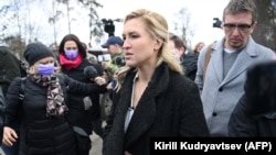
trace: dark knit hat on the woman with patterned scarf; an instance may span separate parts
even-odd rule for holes
[[[42,43],[31,43],[26,46],[24,51],[25,60],[32,66],[35,62],[53,56],[52,51]]]

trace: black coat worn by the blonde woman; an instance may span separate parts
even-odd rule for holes
[[[125,133],[135,75],[128,73],[123,88],[114,95],[104,133],[104,155],[123,155],[124,151],[148,155],[152,136],[209,136],[197,85],[166,64],[156,69]]]

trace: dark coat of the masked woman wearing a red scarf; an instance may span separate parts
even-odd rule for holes
[[[77,81],[92,84],[91,79],[88,77],[85,77],[84,75],[84,68],[87,66],[94,66],[97,69],[98,75],[99,76],[103,75],[102,66],[91,64],[88,63],[87,59],[83,59],[83,62],[77,68],[74,68],[71,70],[66,70],[64,67],[62,67],[62,73],[66,74],[68,77]],[[92,134],[92,131],[93,131],[92,120],[100,118],[99,93],[103,93],[106,91],[107,90],[104,89],[103,91],[97,91],[97,92],[89,95],[93,106],[88,110],[85,110],[84,101],[83,101],[83,99],[87,97],[87,95],[71,93],[68,96],[68,108],[71,108],[71,111],[68,112],[68,119],[71,123],[73,125],[84,129],[84,131],[88,135]]]

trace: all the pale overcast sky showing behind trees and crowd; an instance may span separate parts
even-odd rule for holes
[[[0,5],[9,0],[0,0]],[[222,18],[224,7],[229,0],[97,0],[104,7],[97,9],[99,19],[124,19],[126,14],[136,9],[150,9],[162,14],[169,24],[169,31],[173,32],[176,22],[181,22],[181,19],[176,14],[183,8],[190,13],[190,26],[193,29],[192,47],[200,41],[211,43],[214,40],[221,38],[223,32],[220,29],[214,29],[213,18]],[[51,4],[51,1],[46,1]],[[72,1],[73,2],[73,1]],[[75,4],[72,4],[74,7]],[[50,7],[51,8],[51,7]],[[35,11],[36,7],[31,9],[31,15],[33,20],[44,25],[40,27],[39,40],[50,45],[53,43],[53,26],[49,24],[46,13]],[[65,9],[64,9],[65,10]],[[89,42],[89,27],[87,13],[83,13],[83,9],[78,8],[71,12],[73,19],[77,19],[71,22],[71,33],[76,34],[83,42]],[[116,31],[115,35],[121,36],[123,23],[115,22]],[[66,16],[61,18],[57,29],[57,43],[62,37],[68,33]],[[11,29],[14,31],[17,29]],[[17,32],[17,31],[14,31]],[[178,34],[180,35],[180,34]],[[103,38],[103,44],[107,40],[107,34]],[[92,43],[94,48],[100,48],[100,44]]]

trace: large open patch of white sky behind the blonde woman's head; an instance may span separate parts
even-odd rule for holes
[[[181,8],[187,8],[191,14],[191,25],[194,27],[192,40],[194,45],[200,41],[211,43],[223,35],[221,30],[212,27],[213,18],[222,18],[229,0],[99,0],[99,2],[104,5],[98,9],[102,19],[124,19],[130,11],[146,8],[166,16],[171,32],[173,22],[178,20],[176,13]],[[121,32],[123,23],[116,22],[115,35],[121,36]]]

